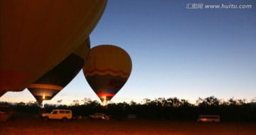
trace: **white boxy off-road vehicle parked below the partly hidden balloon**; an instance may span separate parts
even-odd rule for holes
[[[61,119],[62,121],[68,121],[72,119],[72,111],[70,109],[53,109],[50,114],[41,114],[43,121],[48,119]]]

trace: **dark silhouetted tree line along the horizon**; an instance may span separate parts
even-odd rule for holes
[[[39,108],[36,102],[8,103],[1,102],[14,109],[16,112],[38,114]],[[87,117],[96,112],[111,115],[112,119],[125,119],[128,114],[136,114],[137,119],[161,119],[161,120],[186,120],[195,121],[198,115],[212,114],[220,115],[221,121],[256,121],[256,99],[246,102],[245,99],[230,98],[227,101],[216,97],[199,97],[196,104],[191,104],[186,99],[157,98],[154,100],[144,99],[137,103],[131,101],[102,104],[90,98],[74,100],[70,105],[45,104],[46,112],[53,109],[71,109],[74,115]]]

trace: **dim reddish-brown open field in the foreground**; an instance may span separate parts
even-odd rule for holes
[[[0,134],[256,134],[256,123],[200,123],[196,121],[94,120],[63,123],[42,121],[22,115],[14,121],[0,121]]]

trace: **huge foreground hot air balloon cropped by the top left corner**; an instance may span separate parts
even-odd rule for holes
[[[0,92],[22,91],[85,41],[107,0],[1,0]]]

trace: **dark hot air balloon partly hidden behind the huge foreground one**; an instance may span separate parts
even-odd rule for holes
[[[36,82],[29,85],[29,92],[36,98],[38,104],[43,100],[50,100],[63,90],[78,72],[85,65],[85,60],[90,51],[90,38],[80,45],[74,53],[70,54],[65,60],[55,68],[40,77]]]

